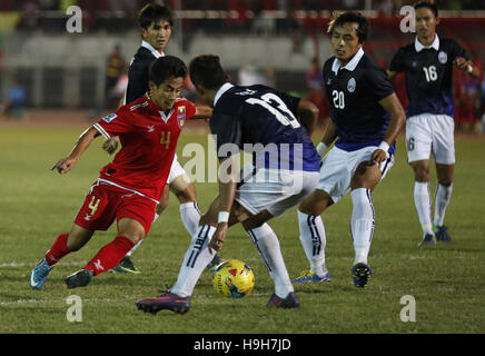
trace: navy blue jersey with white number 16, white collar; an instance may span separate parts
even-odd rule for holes
[[[438,49],[423,48],[416,42],[402,47],[390,62],[390,71],[405,72],[408,118],[425,112],[455,115],[453,61],[468,56],[454,40],[436,37],[435,42]]]

